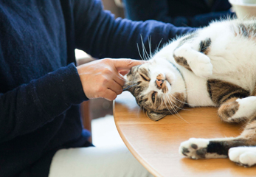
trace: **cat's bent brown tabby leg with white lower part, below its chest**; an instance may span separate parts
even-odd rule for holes
[[[256,111],[256,97],[249,91],[224,80],[207,80],[210,98],[218,108],[218,116],[225,122],[242,122]]]

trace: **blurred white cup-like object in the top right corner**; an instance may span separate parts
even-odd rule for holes
[[[256,0],[229,0],[238,18],[256,17]]]

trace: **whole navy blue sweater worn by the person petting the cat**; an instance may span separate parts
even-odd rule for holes
[[[0,26],[1,177],[48,176],[57,150],[90,145],[75,48],[94,58],[139,58],[140,35],[155,48],[191,30],[114,19],[93,0],[0,0]]]

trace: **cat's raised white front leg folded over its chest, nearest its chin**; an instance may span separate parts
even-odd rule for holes
[[[173,52],[173,58],[184,68],[194,72],[199,77],[210,77],[212,75],[212,63],[207,53],[210,51],[210,38],[200,40],[194,38],[192,41],[181,41]]]

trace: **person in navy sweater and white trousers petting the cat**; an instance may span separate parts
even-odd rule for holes
[[[0,176],[149,176],[127,149],[91,147],[79,104],[122,92],[143,61],[111,58],[139,59],[141,36],[194,29],[115,19],[98,0],[1,0],[0,24]],[[75,66],[75,49],[106,59]]]

